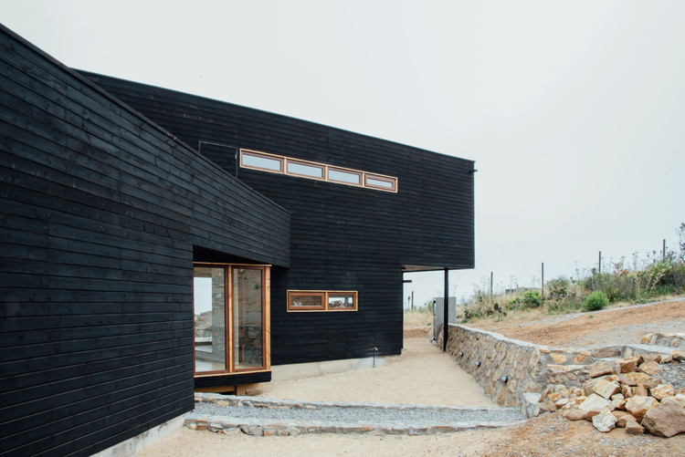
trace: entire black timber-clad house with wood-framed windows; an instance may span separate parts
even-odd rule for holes
[[[0,454],[90,454],[271,367],[402,349],[473,162],[65,68],[0,34]]]

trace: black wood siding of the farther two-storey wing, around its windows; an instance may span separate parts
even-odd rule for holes
[[[473,162],[257,109],[85,73],[190,145],[200,141],[395,176],[399,192],[237,169],[291,214],[272,273],[274,365],[398,354],[402,267],[474,265]],[[360,108],[363,109],[363,108]],[[204,149],[236,172],[235,152]],[[359,311],[288,313],[288,289],[357,290]]]

